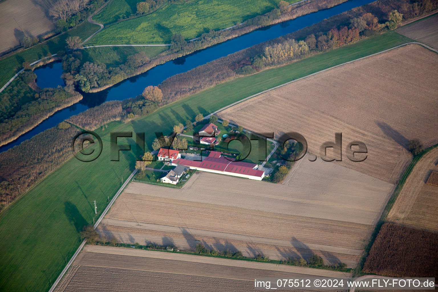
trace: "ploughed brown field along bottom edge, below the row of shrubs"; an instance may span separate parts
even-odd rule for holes
[[[253,291],[254,277],[343,277],[303,267],[85,246],[55,291]]]

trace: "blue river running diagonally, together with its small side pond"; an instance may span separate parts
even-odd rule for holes
[[[84,96],[84,99],[80,102],[54,113],[38,126],[18,137],[15,141],[1,146],[0,152],[21,144],[21,142],[32,138],[44,130],[56,126],[70,116],[81,113],[90,107],[98,106],[109,100],[123,100],[135,97],[140,95],[146,86],[158,85],[170,76],[186,72],[212,60],[235,53],[241,49],[246,49],[269,39],[275,39],[279,36],[295,32],[301,28],[318,23],[325,18],[329,18],[333,15],[343,13],[354,7],[359,7],[373,1],[374,0],[350,0],[329,9],[320,10],[290,21],[260,28],[215,46],[158,65],[143,74],[124,80],[106,90],[97,93],[83,93],[82,95]],[[61,63],[58,62],[54,63],[52,67],[47,65],[36,69],[35,74],[37,75],[37,84],[39,87],[56,88],[58,85],[64,85],[64,82],[60,79],[60,75],[62,74],[60,66]]]

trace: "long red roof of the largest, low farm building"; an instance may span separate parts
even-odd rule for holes
[[[219,153],[219,156],[217,153]],[[248,176],[261,177],[264,173],[264,171],[262,170],[253,169],[256,166],[256,164],[254,163],[230,161],[225,157],[220,156],[220,152],[217,151],[211,151],[210,155],[208,155],[208,157],[204,158],[204,160],[202,161],[177,159],[174,160],[172,163],[178,165],[185,165],[189,167],[222,171],[224,173],[226,172],[239,173]]]

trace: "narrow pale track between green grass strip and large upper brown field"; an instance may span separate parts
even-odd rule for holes
[[[434,48],[432,48],[432,47],[430,47],[430,46],[427,46],[426,44],[424,44],[424,43],[422,43],[422,42],[405,42],[405,43],[403,43],[403,44],[400,44],[400,45],[394,46],[394,47],[392,47],[392,48],[385,49],[385,50],[383,50],[383,51],[380,51],[380,52],[377,52],[377,53],[374,53],[374,54],[371,54],[371,55],[367,55],[367,56],[364,56],[364,57],[360,57],[360,58],[358,58],[358,59],[351,60],[351,61],[348,61],[348,62],[345,62],[345,63],[342,63],[342,64],[338,64],[338,65],[336,65],[336,66],[332,66],[332,67],[326,68],[326,69],[324,69],[324,70],[321,70],[321,71],[318,71],[318,72],[315,72],[315,73],[312,73],[312,74],[309,74],[309,75],[306,75],[306,76],[300,77],[300,78],[298,78],[298,79],[294,79],[294,80],[292,80],[292,81],[288,81],[288,82],[286,82],[286,83],[283,83],[283,84],[277,85],[277,86],[275,86],[275,87],[272,87],[272,88],[266,89],[266,90],[264,90],[264,91],[258,92],[258,93],[256,93],[256,94],[251,95],[251,96],[248,96],[248,97],[246,97],[246,98],[244,98],[244,99],[240,99],[240,100],[237,101],[237,102],[233,102],[232,104],[230,104],[230,105],[228,105],[228,106],[224,106],[222,109],[218,109],[217,111],[215,111],[215,112],[209,114],[209,115],[206,116],[204,119],[206,119],[206,118],[208,118],[208,117],[210,117],[210,116],[212,116],[212,115],[215,115],[215,114],[217,114],[217,113],[219,113],[219,112],[222,112],[223,110],[228,109],[228,108],[230,108],[230,107],[232,107],[232,106],[235,106],[235,105],[237,105],[237,104],[239,104],[239,103],[241,103],[241,102],[244,102],[244,101],[246,101],[246,100],[248,100],[248,99],[252,99],[253,97],[256,97],[256,96],[258,96],[258,95],[261,95],[261,94],[263,94],[263,93],[266,93],[266,92],[268,92],[268,91],[271,91],[271,90],[274,90],[274,89],[277,89],[277,88],[283,87],[283,86],[288,85],[288,84],[291,84],[291,83],[293,83],[293,82],[297,82],[297,81],[300,81],[300,80],[306,79],[306,78],[308,78],[308,77],[312,77],[312,76],[315,76],[315,75],[321,74],[321,73],[323,73],[323,72],[326,72],[326,71],[329,71],[329,70],[335,69],[335,68],[337,68],[337,67],[344,66],[344,65],[346,65],[346,64],[350,64],[350,63],[353,63],[353,62],[356,62],[356,61],[364,60],[364,59],[366,59],[366,58],[369,58],[369,57],[372,57],[372,56],[375,56],[375,55],[378,55],[378,54],[381,54],[381,53],[385,53],[385,52],[391,51],[391,50],[393,50],[393,49],[400,48],[400,47],[402,47],[402,46],[411,45],[411,44],[416,44],[416,45],[424,46],[426,49],[430,49],[431,51],[434,51],[435,53],[438,53],[438,50],[436,50],[436,49],[434,49]],[[269,70],[269,69],[268,69],[268,70]]]

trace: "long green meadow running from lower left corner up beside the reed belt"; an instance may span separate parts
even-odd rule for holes
[[[121,151],[110,161],[109,131],[145,132],[148,147],[155,131],[194,120],[226,105],[334,65],[391,48],[410,39],[388,32],[290,65],[241,77],[164,106],[129,123],[112,122],[96,133],[102,154],[93,162],[71,158],[0,214],[0,291],[47,291],[80,244],[79,232],[93,222],[134,170],[135,155]],[[134,143],[119,138],[118,144]],[[47,145],[50,147],[50,145]],[[135,148],[135,147],[133,147]],[[93,201],[98,214],[94,214]]]

